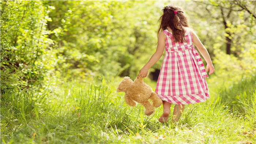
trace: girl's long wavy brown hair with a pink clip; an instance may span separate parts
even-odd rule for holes
[[[170,27],[172,29],[173,41],[187,42],[185,39],[185,27],[188,27],[188,20],[180,7],[172,4],[163,8],[163,15],[159,18],[158,22],[160,21],[157,36],[160,31]]]

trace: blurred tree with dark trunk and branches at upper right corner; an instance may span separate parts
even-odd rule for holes
[[[225,43],[227,54],[231,54],[232,41],[236,41],[236,39],[234,39],[234,35],[240,32],[240,30],[237,29],[242,29],[246,25],[247,27],[252,27],[252,25],[254,24],[254,22],[252,22],[253,19],[255,19],[255,12],[253,11],[254,9],[252,8],[252,10],[249,10],[249,7],[251,8],[256,5],[255,3],[253,3],[253,1],[211,0],[194,2],[200,4],[200,7],[206,10],[208,16],[222,22],[223,27],[225,28]],[[245,14],[244,11],[248,12],[248,14]],[[202,12],[199,15],[201,14]],[[238,14],[240,15],[239,17],[237,17]],[[202,17],[207,16],[202,15]],[[250,22],[247,22],[248,19],[250,19]],[[247,31],[247,34],[251,34],[250,31],[251,30]],[[239,52],[239,50],[237,52]]]

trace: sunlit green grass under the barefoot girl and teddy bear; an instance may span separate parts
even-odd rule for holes
[[[162,106],[150,116],[141,105],[128,106],[116,92],[121,79],[8,91],[1,96],[1,143],[256,142],[255,75],[225,87],[209,83],[210,99],[186,105],[177,124],[158,122]],[[144,82],[154,90],[155,82]]]

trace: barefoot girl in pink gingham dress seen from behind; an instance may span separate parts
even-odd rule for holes
[[[207,49],[189,28],[182,9],[169,5],[163,9],[159,19],[157,50],[137,77],[146,77],[148,69],[159,60],[165,49],[165,56],[157,80],[155,92],[163,101],[163,114],[159,122],[166,122],[170,115],[170,106],[175,104],[172,122],[177,122],[186,104],[205,102],[210,98],[206,78],[214,72]],[[161,32],[160,32],[161,31]],[[196,45],[206,60],[206,70]]]

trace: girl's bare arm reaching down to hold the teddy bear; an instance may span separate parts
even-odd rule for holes
[[[137,78],[139,78],[140,76],[146,77],[148,75],[148,69],[150,69],[155,64],[155,62],[157,62],[159,60],[159,58],[162,56],[163,50],[165,49],[165,38],[166,38],[166,35],[163,33],[163,31],[161,33],[159,33],[158,42],[157,42],[157,50],[151,56],[151,58],[147,62],[147,64],[145,64],[144,67],[142,69],[140,69],[140,73],[137,76]]]

